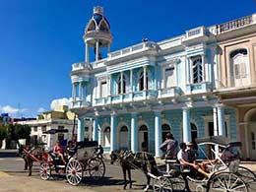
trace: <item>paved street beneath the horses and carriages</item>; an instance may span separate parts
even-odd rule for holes
[[[242,162],[244,166],[256,171],[255,162]],[[65,176],[54,176],[52,180],[42,181],[38,175],[38,164],[34,164],[32,176],[28,176],[28,172],[23,170],[24,161],[19,158],[16,151],[0,151],[0,192],[118,192],[122,189],[122,172],[121,168],[106,162],[106,174],[101,181],[93,181],[85,176],[85,179],[79,186],[71,186],[66,182]],[[139,170],[132,172],[134,187],[132,190],[127,189],[126,192],[143,191],[146,178]],[[256,192],[251,190],[250,192]]]

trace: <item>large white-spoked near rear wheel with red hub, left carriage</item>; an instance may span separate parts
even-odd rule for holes
[[[78,160],[69,160],[66,167],[66,178],[71,185],[78,185],[83,178],[83,167]]]

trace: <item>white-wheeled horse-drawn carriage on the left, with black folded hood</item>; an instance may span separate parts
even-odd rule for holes
[[[64,164],[59,156],[49,152],[43,155],[40,164],[40,177],[43,180],[50,178],[52,171],[66,174],[66,178],[71,185],[78,185],[85,171],[94,180],[101,179],[105,174],[105,164],[102,160],[103,149],[97,142],[79,142],[74,153],[65,157],[67,163]]]

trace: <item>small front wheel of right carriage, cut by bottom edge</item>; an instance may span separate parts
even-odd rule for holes
[[[153,190],[155,192],[172,192],[172,183],[167,177],[160,176],[153,179]]]

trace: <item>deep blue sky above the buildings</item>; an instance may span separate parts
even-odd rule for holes
[[[256,12],[254,0],[1,0],[0,112],[34,116],[71,96],[69,72],[85,57],[82,36],[96,5],[110,23],[112,51]]]

